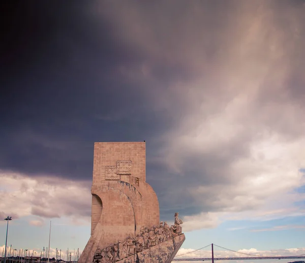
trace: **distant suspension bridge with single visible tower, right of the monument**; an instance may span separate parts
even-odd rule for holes
[[[248,254],[232,249],[224,248],[216,244],[210,244],[205,247],[199,248],[194,251],[190,251],[184,254],[176,255],[172,261],[205,261],[210,260],[214,263],[214,260],[247,260],[247,259],[302,259],[305,258],[305,254],[301,255],[289,255],[282,256],[280,254],[273,255],[259,255]]]

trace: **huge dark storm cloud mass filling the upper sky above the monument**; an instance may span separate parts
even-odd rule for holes
[[[260,204],[227,200],[255,145],[303,136],[304,2],[31,3],[7,12],[1,169],[90,180],[94,142],[145,140],[165,219]]]

